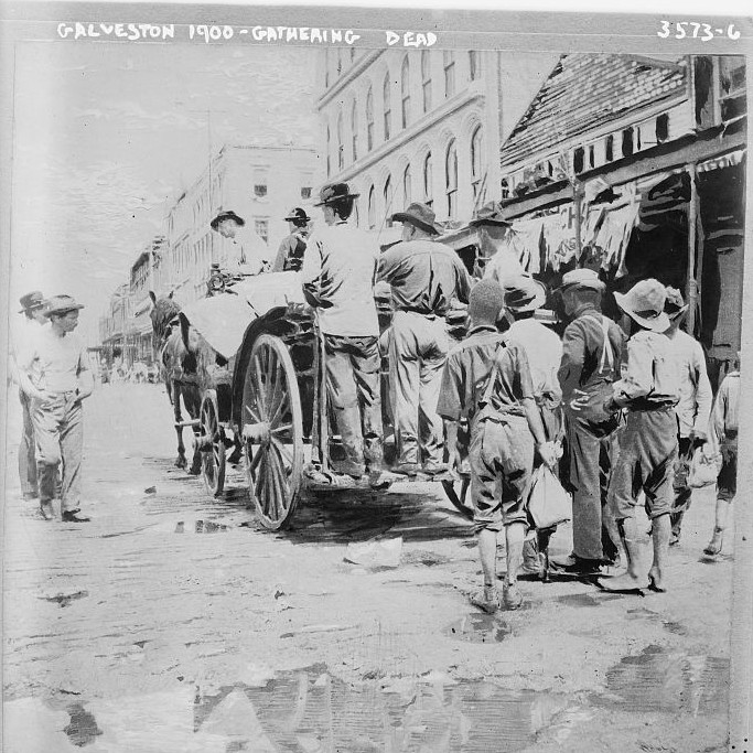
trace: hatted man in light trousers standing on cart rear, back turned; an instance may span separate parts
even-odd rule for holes
[[[398,453],[392,470],[434,475],[447,470],[437,415],[449,349],[445,316],[455,299],[467,303],[471,280],[455,251],[437,241],[429,206],[411,204],[392,220],[402,223],[402,241],[385,251],[378,272],[392,292],[389,384]]]

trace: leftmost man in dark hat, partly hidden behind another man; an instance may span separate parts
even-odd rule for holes
[[[33,342],[39,332],[46,327],[50,320],[44,314],[44,295],[39,290],[22,295],[20,301],[23,321],[21,326],[14,332],[12,353],[10,358],[11,379],[21,385],[19,375],[19,359],[23,356],[24,349]],[[23,429],[21,443],[19,444],[19,477],[21,480],[21,492],[23,498],[35,499],[40,496],[36,480],[36,453],[34,451],[34,426],[31,420],[31,398],[19,387],[19,399],[23,410]]]

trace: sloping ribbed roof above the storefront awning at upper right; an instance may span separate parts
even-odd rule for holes
[[[684,65],[631,55],[562,55],[503,144],[502,164],[684,95],[685,87]]]

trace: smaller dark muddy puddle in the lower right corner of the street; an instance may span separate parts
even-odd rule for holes
[[[724,714],[729,684],[729,659],[647,646],[607,671],[607,693],[594,698],[593,703],[637,713]]]

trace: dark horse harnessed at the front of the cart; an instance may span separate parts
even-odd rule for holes
[[[175,466],[185,469],[185,445],[183,444],[183,415],[181,412],[181,397],[191,419],[198,419],[201,410],[201,389],[196,373],[196,357],[185,347],[178,326],[178,314],[181,306],[173,300],[172,292],[158,299],[153,291],[149,291],[152,309],[149,316],[152,321],[152,344],[158,355],[160,372],[168,389],[168,397],[173,407],[175,418],[175,433],[178,435],[178,458]],[[198,430],[194,429],[194,434]],[[202,466],[202,454],[194,449],[189,473],[198,475]]]

